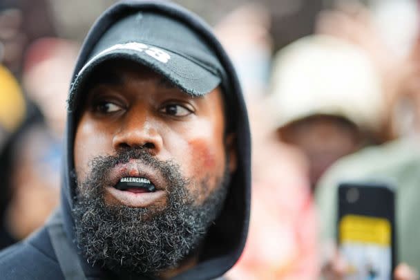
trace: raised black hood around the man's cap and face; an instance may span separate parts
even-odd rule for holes
[[[225,207],[219,218],[211,225],[206,239],[202,259],[198,265],[184,272],[174,279],[214,279],[220,277],[229,270],[238,260],[247,238],[249,223],[250,204],[250,133],[245,102],[242,98],[238,78],[233,66],[223,50],[222,46],[214,37],[211,28],[191,12],[176,6],[173,3],[163,1],[121,1],[97,19],[88,32],[82,50],[79,53],[75,71],[73,72],[72,84],[77,78],[77,73],[85,66],[93,46],[102,37],[104,32],[118,19],[137,11],[150,11],[182,21],[191,29],[195,30],[207,41],[211,50],[216,53],[225,75],[222,77],[222,89],[225,93],[227,115],[233,119],[233,131],[237,136],[238,169],[231,177],[229,194],[225,201]],[[80,94],[79,94],[80,95]],[[71,98],[71,96],[70,96]],[[77,98],[81,98],[80,96]],[[70,100],[71,101],[71,100]],[[61,189],[61,210],[64,216],[64,228],[69,239],[75,240],[75,221],[71,214],[73,199],[75,196],[75,182],[70,176],[74,169],[73,143],[77,128],[75,107],[77,100],[70,102],[68,108],[68,121],[66,124],[66,158],[64,165],[63,187]],[[100,268],[91,266],[80,256],[84,272],[87,277],[101,275]]]

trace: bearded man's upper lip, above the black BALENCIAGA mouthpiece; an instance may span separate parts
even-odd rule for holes
[[[165,182],[160,171],[144,165],[140,160],[130,160],[126,163],[119,163],[113,167],[109,174],[111,186],[114,187],[124,177],[142,177],[149,179],[156,190],[164,190]]]

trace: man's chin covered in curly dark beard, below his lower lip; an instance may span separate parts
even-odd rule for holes
[[[115,198],[108,204],[104,198],[77,200],[73,210],[76,237],[89,263],[117,273],[154,274],[176,267],[195,252],[213,220],[202,217],[207,207],[169,203],[160,209],[155,205],[134,208]]]

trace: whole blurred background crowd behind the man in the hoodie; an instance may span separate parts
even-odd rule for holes
[[[0,0],[0,248],[59,203],[70,76],[113,2]],[[175,2],[213,25],[249,109],[251,224],[230,279],[338,279],[336,188],[370,178],[397,187],[399,263],[420,271],[419,3]]]

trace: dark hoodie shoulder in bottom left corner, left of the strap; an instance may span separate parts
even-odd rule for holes
[[[0,252],[1,279],[64,279],[46,228]]]

